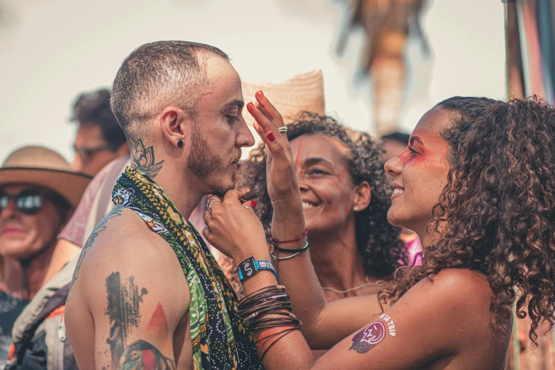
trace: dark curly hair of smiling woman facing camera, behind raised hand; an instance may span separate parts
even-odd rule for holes
[[[303,112],[298,120],[287,125],[288,140],[301,135],[322,134],[335,138],[349,150],[344,158],[354,184],[367,181],[372,197],[369,206],[355,216],[357,246],[361,254],[364,271],[370,276],[389,276],[406,263],[405,244],[400,240],[400,228],[392,226],[387,220],[387,211],[391,206],[391,185],[388,184],[383,169],[383,149],[369,135],[348,130],[333,118]],[[250,152],[250,157],[242,164],[240,188],[256,189],[264,193],[257,200],[254,212],[264,225],[267,234],[270,231],[273,210],[266,194],[266,151],[262,142]]]

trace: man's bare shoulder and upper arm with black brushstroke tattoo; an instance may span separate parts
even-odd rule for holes
[[[173,340],[186,330],[177,332],[189,323],[191,302],[179,260],[132,210],[107,218],[86,243],[66,306],[79,366],[96,361],[96,369],[119,369],[126,346],[143,342],[174,359]]]

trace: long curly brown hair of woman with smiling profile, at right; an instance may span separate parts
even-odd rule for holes
[[[437,238],[421,267],[396,271],[381,302],[442,269],[479,271],[493,291],[493,327],[506,329],[516,299],[535,344],[539,323],[555,321],[555,109],[536,97],[456,96],[438,106],[454,124],[441,133],[450,169],[427,229]]]

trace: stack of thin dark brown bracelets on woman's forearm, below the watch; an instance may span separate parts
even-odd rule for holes
[[[276,285],[262,288],[259,291],[242,298],[239,301],[239,314],[243,325],[250,332],[255,330],[270,329],[272,327],[284,327],[284,330],[273,332],[265,337],[259,338],[256,344],[266,347],[260,355],[261,361],[268,350],[281,338],[294,330],[301,330],[301,321],[291,313],[291,301],[285,292],[285,286]],[[267,317],[271,315],[270,317]],[[266,346],[267,343],[271,343]]]

